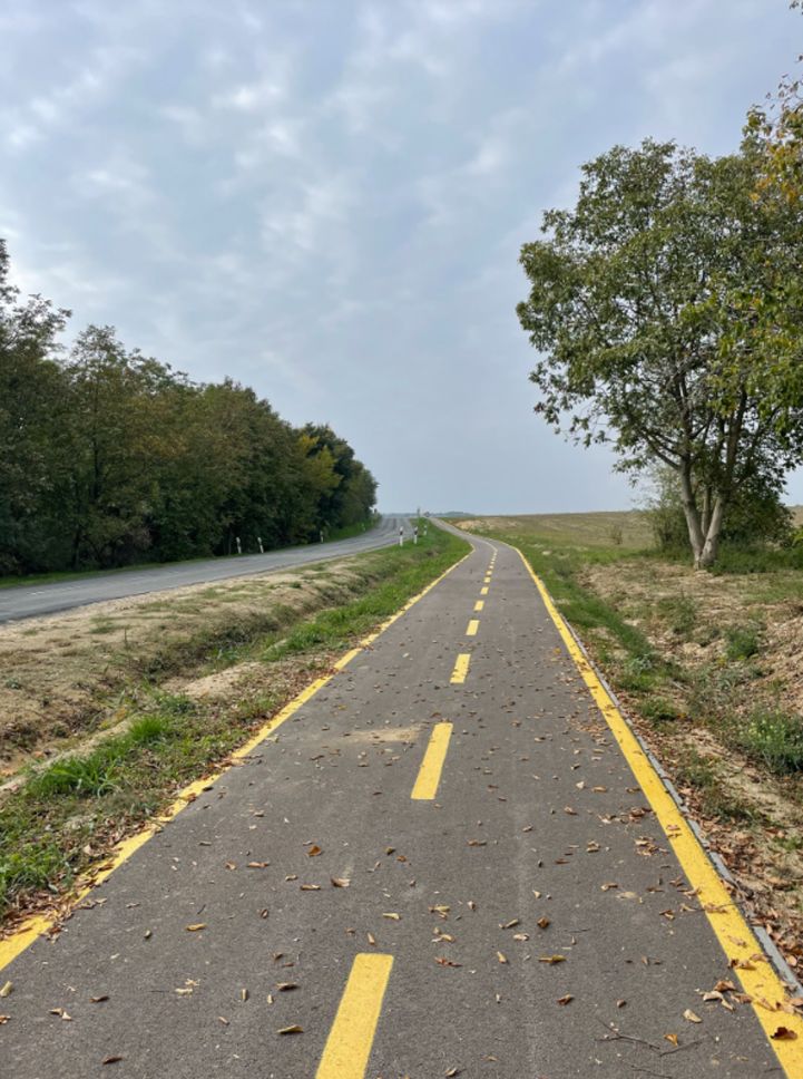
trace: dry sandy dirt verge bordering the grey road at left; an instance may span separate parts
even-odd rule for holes
[[[182,692],[226,696],[254,673],[226,669],[239,641],[345,602],[360,581],[347,562],[333,562],[325,572],[192,585],[0,626],[0,776],[116,726],[144,680],[192,673]],[[197,669],[202,653],[206,670]]]

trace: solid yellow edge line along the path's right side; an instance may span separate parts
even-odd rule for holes
[[[745,993],[753,999],[753,1009],[770,1044],[789,1079],[803,1076],[803,1018],[776,1010],[784,1002],[784,984],[774,968],[763,956],[758,939],[734,903],[725,883],[703,849],[699,840],[680,813],[675,799],[664,786],[660,776],[630,730],[596,671],[584,655],[569,628],[558,612],[544,583],[532,572],[530,564],[519,551],[521,561],[535,581],[552,622],[577,664],[582,680],[601,711],[616,741],[625,756],[636,781],[653,807],[653,811],[667,835],[677,861],[702,908],[705,911],[716,939],[728,961],[745,964],[732,971],[742,983]],[[795,1039],[774,1040],[773,1033],[785,1027],[796,1034]]]

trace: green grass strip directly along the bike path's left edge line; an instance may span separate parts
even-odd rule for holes
[[[464,541],[430,528],[417,547],[390,547],[352,560],[359,597],[312,616],[293,612],[295,622],[282,640],[275,632],[251,634],[241,626],[216,643],[228,649],[233,662],[244,654],[267,660],[296,655],[300,670],[309,669],[322,649],[356,643],[467,550]],[[325,581],[321,586],[332,587]],[[208,655],[209,647],[209,641],[198,642],[198,654]],[[140,691],[138,710],[124,733],[84,756],[31,772],[0,804],[0,916],[25,907],[37,894],[69,888],[114,839],[207,774],[282,703],[281,693],[270,689],[232,709],[151,688]]]

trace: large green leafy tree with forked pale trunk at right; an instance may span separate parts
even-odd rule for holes
[[[582,174],[574,210],[547,212],[548,239],[521,250],[536,411],[586,446],[611,443],[623,470],[672,468],[694,564],[708,566],[740,489],[777,488],[803,451],[803,398],[773,390],[764,311],[775,265],[800,256],[795,214],[756,197],[746,153],[646,140]]]

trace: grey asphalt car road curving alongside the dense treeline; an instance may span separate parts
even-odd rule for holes
[[[121,600],[129,595],[164,592],[188,584],[227,581],[232,577],[287,570],[311,562],[345,558],[361,551],[375,551],[379,547],[390,546],[398,541],[400,527],[404,528],[409,540],[411,534],[409,518],[391,516],[382,517],[375,528],[361,536],[337,540],[333,543],[312,543],[304,547],[270,551],[267,554],[208,558],[203,562],[176,562],[154,568],[92,574],[53,584],[21,584],[16,587],[0,589],[0,624],[43,614],[56,614],[59,611],[86,606],[88,603],[102,603],[105,600]]]

